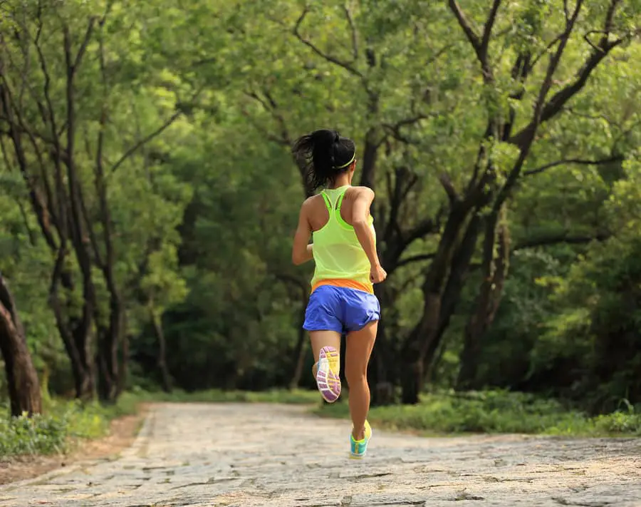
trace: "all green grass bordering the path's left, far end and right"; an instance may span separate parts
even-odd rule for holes
[[[95,401],[82,404],[75,400],[46,398],[43,400],[44,414],[31,419],[0,416],[0,459],[68,451],[79,439],[104,436],[108,433],[110,421],[118,416],[134,414],[138,404],[145,401],[305,404],[312,405],[311,411],[319,416],[348,418],[347,397],[345,392],[338,403],[323,405],[316,391],[212,389],[194,393],[177,390],[165,394],[134,389],[120,396],[118,403],[112,406]],[[590,417],[581,411],[568,409],[556,400],[506,391],[425,394],[415,406],[373,407],[368,419],[375,426],[432,436],[466,433],[641,436],[641,414],[637,414],[630,404],[613,414]]]

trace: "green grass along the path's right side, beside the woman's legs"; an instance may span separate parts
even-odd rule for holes
[[[315,414],[348,418],[345,401],[318,406]],[[523,393],[426,394],[417,405],[372,407],[368,419],[387,429],[423,435],[520,433],[563,436],[641,436],[641,414],[625,411],[590,417],[559,401]]]

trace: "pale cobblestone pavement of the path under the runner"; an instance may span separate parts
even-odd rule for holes
[[[159,404],[119,459],[1,486],[0,506],[641,506],[641,439],[374,429],[358,461],[349,430],[296,406]]]

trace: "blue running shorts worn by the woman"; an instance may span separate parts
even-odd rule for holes
[[[321,285],[309,297],[303,329],[349,333],[380,320],[378,298],[364,290]]]

